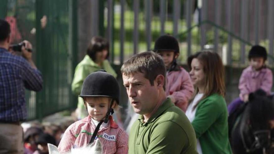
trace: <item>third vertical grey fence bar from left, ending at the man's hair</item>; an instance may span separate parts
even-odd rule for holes
[[[133,31],[133,43],[134,49],[133,53],[137,54],[138,52],[138,41],[139,41],[139,0],[133,0],[133,9],[134,9],[134,31]]]

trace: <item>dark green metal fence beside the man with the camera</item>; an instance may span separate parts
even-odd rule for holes
[[[43,75],[43,90],[26,90],[28,120],[76,106],[71,82],[77,61],[77,5],[73,0],[2,0],[0,17],[11,25],[12,43],[30,40]],[[76,6],[76,7],[75,7]]]

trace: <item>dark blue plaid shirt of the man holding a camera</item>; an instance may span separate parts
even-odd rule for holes
[[[0,121],[26,120],[25,88],[42,89],[42,75],[26,59],[0,48]]]

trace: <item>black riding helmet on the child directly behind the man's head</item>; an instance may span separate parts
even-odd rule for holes
[[[175,53],[179,53],[179,43],[171,35],[162,35],[155,41],[153,51],[174,51]]]

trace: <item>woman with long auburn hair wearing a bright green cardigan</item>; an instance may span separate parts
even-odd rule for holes
[[[232,154],[228,138],[228,111],[224,100],[224,66],[215,52],[202,51],[187,58],[195,92],[186,115],[201,154]]]

